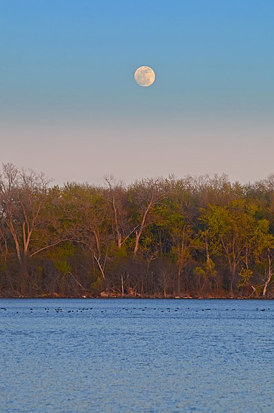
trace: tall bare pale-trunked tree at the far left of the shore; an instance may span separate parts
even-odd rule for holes
[[[21,269],[21,294],[28,287],[28,257],[33,233],[41,223],[49,181],[43,174],[3,165],[0,177],[1,234],[10,233]],[[35,254],[35,252],[32,252]]]

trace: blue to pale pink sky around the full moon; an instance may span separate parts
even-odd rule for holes
[[[0,162],[55,183],[266,177],[273,22],[273,0],[0,0]]]

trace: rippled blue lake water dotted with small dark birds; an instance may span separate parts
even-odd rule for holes
[[[1,412],[273,412],[274,301],[0,307]]]

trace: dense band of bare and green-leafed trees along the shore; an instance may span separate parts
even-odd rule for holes
[[[273,298],[274,175],[104,181],[3,165],[0,296]]]

